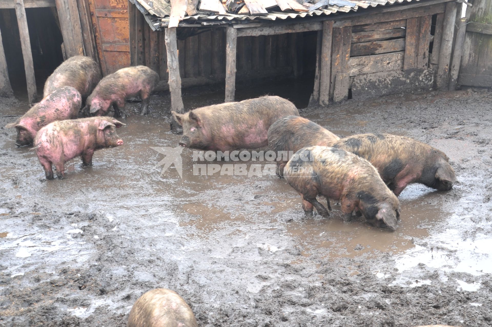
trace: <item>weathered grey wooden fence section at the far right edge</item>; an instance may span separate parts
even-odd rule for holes
[[[475,0],[466,25],[458,84],[492,87],[492,1]],[[468,16],[468,15],[467,15]]]

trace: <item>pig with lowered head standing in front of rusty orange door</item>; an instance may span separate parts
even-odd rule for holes
[[[123,109],[125,99],[140,95],[142,98],[140,114],[145,115],[149,108],[151,93],[158,82],[159,75],[149,67],[140,65],[122,68],[101,79],[87,98],[83,112],[103,116],[113,105],[115,117],[120,117],[120,109]]]

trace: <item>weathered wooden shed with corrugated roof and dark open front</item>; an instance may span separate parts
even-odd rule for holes
[[[131,64],[158,71],[181,111],[182,86],[225,80],[231,101],[236,80],[307,69],[311,104],[448,89],[463,0],[130,2]]]

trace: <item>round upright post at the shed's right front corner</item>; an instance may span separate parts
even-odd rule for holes
[[[437,67],[437,89],[447,90],[449,82],[449,64],[453,48],[453,34],[455,32],[456,2],[447,2],[444,12],[439,66]],[[461,5],[461,3],[460,3]]]

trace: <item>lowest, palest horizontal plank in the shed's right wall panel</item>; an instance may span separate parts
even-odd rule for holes
[[[404,51],[374,56],[352,57],[348,61],[348,74],[357,76],[403,68]],[[333,72],[332,72],[333,73]]]

